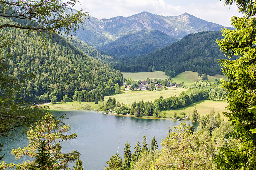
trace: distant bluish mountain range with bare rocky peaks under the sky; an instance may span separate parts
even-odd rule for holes
[[[207,22],[188,13],[167,17],[141,12],[129,17],[118,16],[111,19],[90,17],[83,25],[84,30],[78,30],[76,36],[88,45],[100,47],[141,29],[156,29],[171,37],[182,38],[190,33],[219,31],[222,27],[224,26]]]

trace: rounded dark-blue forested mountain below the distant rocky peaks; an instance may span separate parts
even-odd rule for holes
[[[178,39],[170,37],[162,31],[141,29],[136,33],[130,33],[108,44],[99,46],[98,49],[110,55],[135,56],[150,53],[176,41]]]

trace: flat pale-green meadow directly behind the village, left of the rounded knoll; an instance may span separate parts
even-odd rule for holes
[[[150,79],[161,79],[161,80],[167,79],[168,80],[168,77],[169,77],[165,75],[163,71],[123,73],[123,76],[125,79],[130,77],[131,80],[146,80],[147,77]]]

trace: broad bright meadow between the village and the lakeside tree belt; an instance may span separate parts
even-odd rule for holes
[[[179,96],[182,91],[186,91],[184,88],[169,88],[168,90],[160,90],[160,91],[121,91],[120,94],[115,94],[111,96],[105,96],[104,100],[108,100],[109,97],[115,98],[116,101],[124,104],[132,104],[134,100],[139,101],[143,100],[154,101],[155,99],[163,96],[163,98],[167,98],[170,96]]]

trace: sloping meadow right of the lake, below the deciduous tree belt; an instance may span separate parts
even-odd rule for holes
[[[217,112],[220,112],[220,116],[227,120],[227,118],[222,114],[223,111],[228,112],[228,110],[225,110],[224,108],[227,106],[226,101],[217,101],[217,100],[201,100],[197,103],[191,104],[185,108],[177,109],[177,110],[169,110],[165,111],[166,117],[173,117],[174,112],[177,112],[178,116],[180,115],[180,112],[185,112],[186,116],[192,115],[193,110],[196,108],[198,114],[200,116],[205,116],[207,113],[210,112],[212,108],[215,110],[215,115],[217,115]]]

